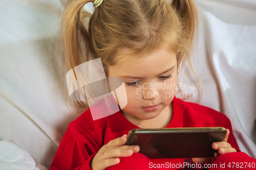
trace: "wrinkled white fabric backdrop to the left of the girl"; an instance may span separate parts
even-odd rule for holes
[[[60,5],[58,0],[0,5],[0,140],[12,139],[47,168],[68,124],[82,112],[68,94],[73,113],[65,104],[68,70],[57,42]]]

